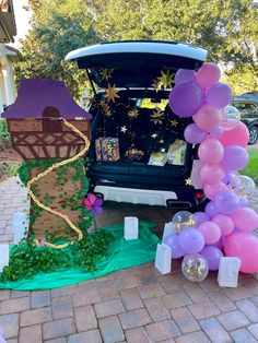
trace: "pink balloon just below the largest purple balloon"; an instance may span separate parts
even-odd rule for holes
[[[221,111],[210,105],[203,105],[192,117],[197,126],[207,132],[216,129],[222,120]]]

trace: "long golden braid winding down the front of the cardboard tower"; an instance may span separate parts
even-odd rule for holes
[[[75,128],[73,125],[71,125],[69,121],[67,121],[66,119],[62,119],[63,120],[63,123],[66,127],[70,128],[73,132],[75,132],[77,134],[79,134],[84,143],[85,143],[85,146],[83,147],[83,150],[77,154],[75,156],[71,157],[71,158],[68,158],[66,161],[62,161],[62,162],[59,162],[55,165],[52,165],[51,167],[49,167],[48,169],[46,169],[45,172],[38,174],[37,176],[35,176],[34,178],[32,178],[28,182],[27,182],[27,186],[26,186],[26,189],[27,189],[27,193],[28,196],[33,199],[33,201],[38,205],[38,208],[49,212],[49,213],[52,213],[55,214],[56,216],[59,216],[61,217],[62,220],[64,220],[67,222],[67,224],[78,234],[78,240],[81,240],[82,237],[83,237],[83,234],[82,234],[82,230],[77,227],[71,221],[70,218],[68,217],[68,215],[66,214],[62,214],[61,212],[59,211],[55,211],[48,206],[46,206],[44,203],[42,203],[37,198],[36,196],[33,193],[32,191],[32,186],[33,184],[35,184],[36,181],[38,181],[40,178],[43,178],[44,176],[48,175],[49,173],[51,173],[52,170],[55,169],[58,169],[59,167],[61,166],[64,166],[69,163],[72,163],[74,161],[77,161],[78,158],[80,158],[81,156],[84,156],[85,153],[87,152],[89,150],[89,146],[90,146],[90,142],[89,142],[89,139],[80,131],[78,130],[78,128]],[[35,239],[35,243],[36,245],[40,246],[40,243],[39,240]],[[47,241],[44,241],[44,244],[52,249],[63,249],[70,245],[73,245],[73,240],[70,241],[70,243],[66,243],[66,244],[62,244],[62,245],[54,245],[51,243],[47,243]]]

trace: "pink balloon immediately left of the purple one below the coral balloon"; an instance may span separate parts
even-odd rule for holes
[[[207,138],[198,149],[198,155],[202,163],[218,164],[224,155],[224,147],[214,138]]]

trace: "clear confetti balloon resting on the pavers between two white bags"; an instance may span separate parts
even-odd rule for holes
[[[199,253],[190,253],[184,257],[181,262],[184,276],[192,282],[203,281],[209,273],[207,259]]]

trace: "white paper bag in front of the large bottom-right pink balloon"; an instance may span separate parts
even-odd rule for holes
[[[218,283],[221,287],[237,287],[241,259],[236,257],[222,257],[218,273]]]

